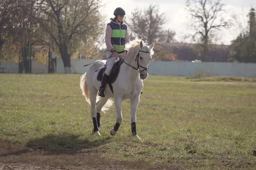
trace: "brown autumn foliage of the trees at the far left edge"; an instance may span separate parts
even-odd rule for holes
[[[6,10],[2,16],[3,23],[0,25],[8,30],[0,28],[1,35],[4,37],[1,60],[5,62],[20,60],[23,69],[27,72],[29,71],[29,45],[34,39],[40,37],[37,33],[39,27],[32,17],[36,0],[5,0],[2,2],[5,2]],[[8,22],[4,22],[5,20]]]

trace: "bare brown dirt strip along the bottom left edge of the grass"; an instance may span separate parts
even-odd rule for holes
[[[0,170],[142,170],[178,169],[143,162],[102,158],[96,148],[82,153],[49,153],[22,144],[0,141]]]

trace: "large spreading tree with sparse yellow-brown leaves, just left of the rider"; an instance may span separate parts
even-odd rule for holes
[[[36,19],[54,40],[64,63],[71,73],[70,57],[81,37],[99,34],[99,1],[41,0]]]

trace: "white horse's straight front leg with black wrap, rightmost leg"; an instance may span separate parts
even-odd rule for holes
[[[140,97],[135,97],[131,99],[131,133],[136,139],[140,139],[140,137],[137,135],[136,130],[136,110],[138,107],[138,104],[140,102]]]

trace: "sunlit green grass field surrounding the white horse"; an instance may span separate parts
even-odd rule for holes
[[[0,139],[54,153],[96,148],[102,157],[189,170],[256,169],[256,79],[152,76],[144,80],[131,136],[130,101],[92,135],[81,74],[0,74]],[[53,160],[61,161],[61,160]],[[82,164],[79,160],[70,164]]]

